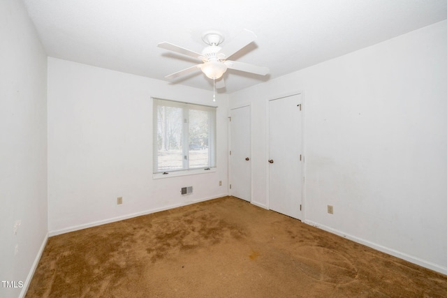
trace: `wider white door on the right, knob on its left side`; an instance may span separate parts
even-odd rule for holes
[[[269,207],[301,219],[301,94],[269,101]]]

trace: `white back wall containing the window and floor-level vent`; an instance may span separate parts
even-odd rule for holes
[[[152,179],[151,96],[218,105],[216,172]],[[228,194],[228,96],[49,58],[47,101],[50,234]]]

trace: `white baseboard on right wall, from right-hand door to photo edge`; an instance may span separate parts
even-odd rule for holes
[[[377,251],[381,251],[382,253],[388,253],[388,255],[393,255],[396,258],[400,258],[402,260],[409,261],[409,262],[411,262],[413,264],[416,264],[416,265],[419,265],[419,266],[431,269],[433,271],[437,271],[437,272],[439,272],[441,274],[446,274],[447,275],[447,268],[443,267],[441,265],[437,265],[437,264],[434,264],[432,262],[428,262],[426,260],[422,260],[420,258],[416,258],[416,257],[414,257],[412,255],[407,255],[406,253],[401,253],[400,251],[396,251],[396,250],[394,250],[392,248],[381,246],[379,244],[375,244],[375,243],[373,243],[371,241],[367,241],[365,239],[352,236],[350,234],[346,234],[346,233],[344,233],[342,231],[335,230],[335,229],[330,228],[330,227],[328,227],[326,225],[321,225],[320,223],[315,223],[314,221],[304,221],[304,222],[307,223],[308,225],[312,225],[312,226],[314,226],[316,228],[319,228],[321,230],[325,230],[327,232],[331,232],[332,234],[337,234],[337,235],[339,235],[341,237],[344,237],[346,239],[349,239],[349,240],[352,240],[352,241],[356,241],[356,242],[358,242],[360,244],[363,244],[365,246],[369,246],[371,248],[376,249]]]

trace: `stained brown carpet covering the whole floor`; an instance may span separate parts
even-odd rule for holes
[[[27,297],[446,297],[447,276],[237,198],[50,237]]]

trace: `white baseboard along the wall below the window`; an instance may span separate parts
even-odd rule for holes
[[[70,228],[50,231],[50,232],[48,232],[48,234],[49,234],[50,237],[52,237],[52,236],[56,236],[56,235],[59,235],[59,234],[65,234],[65,233],[68,233],[68,232],[74,232],[74,231],[77,231],[77,230],[83,230],[83,229],[87,229],[87,228],[91,228],[91,227],[96,227],[97,225],[105,225],[106,223],[114,223],[115,221],[123,221],[124,219],[129,219],[129,218],[133,218],[133,217],[137,217],[137,216],[152,214],[152,213],[155,213],[155,212],[165,211],[165,210],[168,210],[168,209],[182,207],[182,206],[186,206],[186,205],[189,205],[189,204],[195,204],[195,203],[198,203],[198,202],[204,202],[204,201],[207,201],[207,200],[213,200],[213,199],[217,199],[217,198],[222,198],[222,197],[226,197],[227,195],[228,194],[225,193],[225,194],[216,195],[216,196],[213,196],[213,197],[210,197],[210,198],[203,198],[203,199],[199,199],[199,200],[191,200],[191,201],[182,202],[182,203],[179,203],[179,204],[173,204],[173,205],[162,207],[162,208],[150,209],[150,210],[145,210],[145,211],[141,211],[141,212],[136,212],[136,213],[133,213],[133,214],[126,214],[126,215],[123,215],[123,216],[118,216],[118,217],[114,217],[114,218],[108,218],[108,219],[105,219],[103,221],[94,221],[94,222],[85,223],[85,224],[82,224],[82,225],[75,225],[75,226],[70,227]]]

